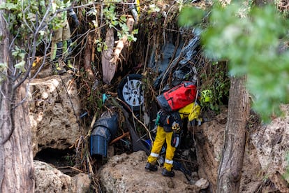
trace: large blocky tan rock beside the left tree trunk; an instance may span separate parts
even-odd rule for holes
[[[29,83],[29,116],[34,156],[45,148],[68,149],[80,136],[80,100],[72,76],[50,76]]]

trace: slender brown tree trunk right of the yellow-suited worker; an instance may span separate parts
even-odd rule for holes
[[[246,77],[231,78],[228,122],[223,155],[218,169],[217,192],[239,192],[250,113]]]

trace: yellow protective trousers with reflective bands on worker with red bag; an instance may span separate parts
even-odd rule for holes
[[[163,164],[163,168],[165,168],[168,171],[172,171],[172,159],[175,155],[176,148],[172,147],[171,141],[172,141],[172,134],[171,132],[165,132],[163,127],[158,125],[158,128],[156,129],[156,139],[154,140],[154,143],[151,148],[151,154],[149,157],[147,157],[147,162],[151,164],[156,164],[156,161],[158,159],[158,155],[161,152],[161,148],[163,147],[163,144],[167,143],[167,149],[165,151],[165,163]]]

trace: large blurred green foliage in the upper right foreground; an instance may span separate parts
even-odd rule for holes
[[[195,17],[189,18],[195,21]],[[289,101],[288,50],[279,49],[287,44],[288,25],[272,5],[258,8],[237,2],[228,6],[215,3],[202,33],[209,58],[228,59],[230,76],[248,76],[246,86],[253,96],[253,109],[265,122],[272,115],[281,115],[280,103]]]

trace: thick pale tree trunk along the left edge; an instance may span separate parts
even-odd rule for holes
[[[0,3],[5,1],[0,0]],[[28,104],[24,84],[13,79],[10,34],[0,10],[0,192],[34,192],[34,167]],[[3,76],[4,75],[4,76]]]

